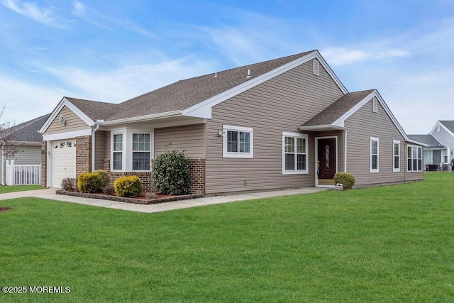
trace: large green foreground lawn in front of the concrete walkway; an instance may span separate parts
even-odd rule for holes
[[[138,214],[0,201],[0,302],[453,302],[454,173]]]

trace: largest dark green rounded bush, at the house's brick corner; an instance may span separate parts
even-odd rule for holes
[[[153,162],[153,187],[157,194],[190,194],[189,159],[176,150],[158,155]]]

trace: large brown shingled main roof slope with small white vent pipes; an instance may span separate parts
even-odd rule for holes
[[[253,77],[270,72],[279,66],[297,60],[299,57],[303,57],[311,52],[313,50],[275,60],[236,67],[231,70],[216,72],[216,74],[211,73],[209,75],[180,80],[166,87],[156,89],[153,92],[148,92],[118,104],[116,112],[105,120],[128,119],[187,109],[189,106],[221,94],[228,89],[249,81]],[[250,77],[248,77],[248,71],[250,71]]]

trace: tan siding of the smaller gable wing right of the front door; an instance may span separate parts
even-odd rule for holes
[[[406,143],[401,133],[372,99],[345,121],[348,129],[347,171],[356,177],[355,186],[422,180],[422,172],[406,172]],[[379,138],[379,172],[370,172],[370,137]],[[400,172],[393,172],[393,140],[400,141]]]

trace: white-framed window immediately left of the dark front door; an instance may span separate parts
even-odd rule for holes
[[[282,132],[282,175],[309,172],[308,141],[306,134]]]

